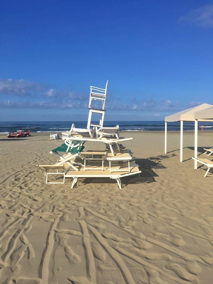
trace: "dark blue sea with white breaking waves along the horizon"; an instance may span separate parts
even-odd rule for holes
[[[16,121],[0,122],[0,133],[8,133],[12,130],[29,130],[31,132],[61,132],[70,130],[72,123],[77,128],[86,128],[86,121]],[[93,122],[98,123],[98,122]],[[213,122],[198,122],[204,124],[205,130],[213,130]],[[158,131],[164,130],[164,121],[104,121],[105,127],[119,125],[120,130],[125,131]],[[200,129],[200,127],[199,127]],[[180,122],[168,122],[167,130],[180,130]],[[193,131],[194,122],[183,122],[183,130]]]

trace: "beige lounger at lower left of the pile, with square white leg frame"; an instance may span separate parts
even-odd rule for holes
[[[37,165],[37,167],[40,167],[44,172],[45,172],[45,176],[46,176],[46,183],[64,183],[65,181],[65,173],[68,172],[68,170],[70,169],[70,166],[66,163],[63,163],[61,165],[57,165],[53,164],[53,165]],[[62,172],[59,172],[62,171]],[[55,172],[57,171],[57,172]],[[48,175],[62,175],[63,176],[63,182],[49,182],[48,181]]]

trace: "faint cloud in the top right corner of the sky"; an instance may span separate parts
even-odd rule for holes
[[[189,22],[203,28],[213,28],[213,5],[191,9],[188,14],[179,18],[180,22]]]

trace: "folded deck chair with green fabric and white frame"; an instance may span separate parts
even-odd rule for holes
[[[72,148],[72,149],[69,148],[67,150],[67,145],[63,143],[59,147],[50,151],[50,154],[54,153],[56,156],[60,158],[61,161],[57,162],[56,165],[67,163],[74,170],[78,171],[78,168],[76,168],[75,165],[79,165],[79,163],[75,161],[75,157],[78,157],[80,155],[80,152],[83,151],[83,149],[84,149],[84,146],[80,146],[80,147]],[[59,152],[65,152],[65,153],[68,153],[69,155],[63,157],[62,155],[59,154]]]

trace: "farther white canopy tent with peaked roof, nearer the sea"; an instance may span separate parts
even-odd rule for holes
[[[167,122],[180,121],[180,162],[183,162],[183,121],[195,121],[195,112],[199,112],[210,107],[213,107],[213,105],[200,104],[199,106],[194,106],[190,109],[185,109],[181,112],[165,117],[165,154],[167,153]],[[199,121],[205,121],[205,119],[199,119]]]

